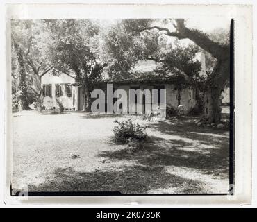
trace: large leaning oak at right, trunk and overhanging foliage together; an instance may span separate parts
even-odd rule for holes
[[[145,48],[141,47],[137,50],[135,53],[136,57],[138,59],[149,59],[159,62],[165,71],[174,72],[179,69],[193,83],[198,83],[198,86],[202,85],[200,89],[204,93],[204,117],[206,117],[209,123],[219,121],[219,98],[229,80],[228,35],[225,38],[224,33],[210,37],[207,33],[203,33],[196,28],[188,28],[185,25],[184,19],[124,19],[119,24],[119,27],[122,27],[119,28],[122,36],[125,39],[129,37],[130,40],[125,41],[126,47],[123,47],[122,42],[124,41],[119,42],[119,46],[124,49],[119,49],[123,55],[126,55],[127,51],[133,50],[133,47],[128,47],[127,44],[130,45],[134,37],[136,40],[139,40],[138,42],[144,42],[140,46],[143,45]],[[163,46],[160,41],[163,35],[174,37],[176,40],[189,39],[194,42],[194,46],[184,49],[180,49],[179,45],[176,45],[175,49],[169,46],[169,44],[164,44]],[[115,37],[117,36],[115,35]],[[222,42],[219,42],[219,40],[222,40]],[[197,48],[208,53],[207,76],[198,75],[199,64],[192,60],[192,55],[194,55]],[[109,46],[108,49],[112,52],[113,46]],[[119,65],[119,57],[115,56],[115,60],[115,65]],[[122,57],[122,62],[124,61],[127,62],[128,60]],[[137,60],[133,59],[133,62],[137,62]],[[131,62],[127,64],[130,65]],[[126,69],[128,70],[128,67]]]

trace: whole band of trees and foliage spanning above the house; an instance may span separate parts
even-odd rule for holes
[[[227,31],[203,33],[188,28],[184,19],[122,19],[112,26],[103,24],[92,19],[13,20],[12,76],[17,83],[13,91],[18,89],[22,108],[28,108],[31,93],[40,92],[40,76],[50,69],[54,75],[74,74],[83,87],[84,108],[89,108],[90,92],[103,73],[129,80],[137,76],[138,62],[151,60],[156,71],[146,76],[181,76],[179,86],[185,79],[197,85],[205,95],[206,118],[219,121],[219,96],[229,80]],[[192,44],[181,44],[184,39]],[[194,59],[198,51],[206,54],[206,76],[199,75],[201,64]]]

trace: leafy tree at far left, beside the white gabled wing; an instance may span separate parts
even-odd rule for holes
[[[44,59],[38,42],[40,21],[12,20],[12,76],[17,87],[17,98],[22,109],[37,101],[40,94],[40,76],[51,69]],[[15,93],[15,89],[13,92]]]

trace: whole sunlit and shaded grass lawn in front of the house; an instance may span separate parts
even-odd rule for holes
[[[140,120],[150,125],[149,139],[131,152],[113,143],[115,118],[83,112],[14,113],[13,191],[227,193],[228,131],[197,127],[193,118]]]

